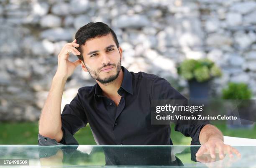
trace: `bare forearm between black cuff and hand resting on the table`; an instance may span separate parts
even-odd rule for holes
[[[217,127],[207,124],[200,131],[199,140],[201,145],[205,144],[210,138],[219,138],[224,141],[222,132]]]

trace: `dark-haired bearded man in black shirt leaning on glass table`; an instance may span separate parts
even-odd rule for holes
[[[78,60],[69,61],[69,53]],[[78,144],[73,135],[90,124],[100,145],[172,145],[169,125],[151,125],[153,99],[186,99],[168,81],[144,72],[129,72],[123,66],[122,48],[114,31],[105,23],[88,23],[81,27],[72,43],[58,55],[58,68],[39,121],[39,145]],[[81,64],[96,80],[82,87],[60,115],[61,97],[67,78]],[[201,145],[197,155],[210,152],[220,158],[224,151],[239,152],[223,143],[222,133],[209,122],[201,125],[176,125],[176,131],[192,137],[192,145]]]

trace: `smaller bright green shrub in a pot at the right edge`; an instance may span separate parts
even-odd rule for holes
[[[238,120],[230,121],[228,120],[228,128],[253,128],[254,122],[250,121],[253,118],[254,113],[254,103],[251,100],[252,91],[248,88],[245,83],[234,83],[230,82],[228,87],[222,90],[222,99],[228,99],[230,101],[225,101],[224,103],[232,104],[232,109],[237,109],[236,116],[239,117]],[[229,114],[233,115],[232,112]],[[246,120],[247,119],[247,120]]]

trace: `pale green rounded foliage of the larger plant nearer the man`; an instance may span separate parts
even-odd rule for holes
[[[178,67],[178,74],[187,80],[196,79],[198,82],[221,76],[221,70],[209,59],[187,59]]]

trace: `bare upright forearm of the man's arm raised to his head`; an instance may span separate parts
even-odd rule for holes
[[[66,79],[54,76],[39,121],[39,134],[56,139],[58,142],[62,138],[60,110],[65,83]]]

